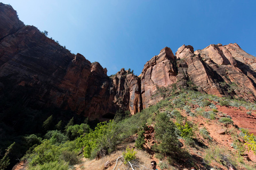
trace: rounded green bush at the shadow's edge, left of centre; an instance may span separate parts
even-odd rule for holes
[[[74,140],[84,133],[89,133],[90,127],[87,124],[82,123],[81,125],[70,125],[67,129],[67,135],[70,140]]]

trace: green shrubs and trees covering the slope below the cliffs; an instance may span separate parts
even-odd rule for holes
[[[17,158],[28,160],[29,169],[70,169],[81,162],[82,154],[85,158],[90,159],[106,156],[115,151],[119,143],[135,133],[138,133],[135,146],[138,149],[143,149],[145,143],[143,134],[147,131],[148,125],[151,124],[154,126],[156,139],[153,150],[158,159],[164,160],[161,163],[163,168],[175,164],[195,166],[195,159],[185,149],[181,149],[182,143],[178,139],[183,139],[186,145],[190,147],[206,149],[203,160],[205,166],[210,166],[211,162],[215,161],[225,165],[234,164],[253,169],[253,167],[246,165],[241,158],[242,153],[246,150],[246,145],[247,148],[256,152],[256,137],[253,134],[249,134],[243,129],[241,129],[240,135],[229,132],[233,134],[235,139],[233,147],[237,149],[239,154],[227,156],[225,151],[214,147],[207,129],[198,129],[196,124],[187,120],[187,117],[203,116],[209,120],[214,120],[219,111],[213,101],[218,102],[219,105],[244,106],[247,109],[256,110],[254,104],[246,103],[243,100],[205,95],[196,91],[187,90],[174,93],[162,88],[159,90],[161,90],[160,95],[165,93],[163,95],[164,100],[132,116],[127,116],[127,112],[122,114],[119,111],[114,120],[108,122],[88,122],[87,119],[76,116],[60,120],[55,117],[56,114],[53,111],[49,111],[47,116],[44,116],[43,122],[39,123],[38,120],[36,125],[33,123],[33,126],[36,126],[38,130],[30,130],[28,135],[21,135],[25,133],[24,131],[21,131],[22,133],[20,132],[20,135],[16,137],[9,135],[6,141],[1,139],[1,143],[3,142],[1,148],[5,147],[6,151],[3,154],[4,149],[2,149],[0,169],[6,168],[11,159]],[[199,107],[193,110],[190,108],[190,104],[199,105]],[[212,111],[206,112],[206,107],[211,108]],[[21,112],[18,111],[18,108],[16,109],[15,112]],[[24,111],[28,110],[25,109]],[[36,117],[39,113],[38,111],[35,112],[36,114],[30,111],[30,116]],[[185,112],[187,116],[182,116],[181,112]],[[26,112],[21,114],[25,116]],[[59,112],[60,114],[61,112]],[[36,119],[34,118],[34,120]],[[30,122],[27,121],[26,123]],[[233,121],[231,117],[226,116],[220,118],[219,123],[230,126]],[[8,131],[5,134],[7,133]],[[195,133],[212,143],[211,147],[206,148],[198,145]],[[246,141],[245,144],[239,142],[238,139],[241,138]],[[78,153],[82,154],[78,156]],[[130,153],[125,155],[127,160],[135,157],[134,152],[130,151],[129,148],[127,153]],[[226,163],[221,162],[224,157],[227,160]],[[189,161],[186,163],[181,161],[185,159]]]

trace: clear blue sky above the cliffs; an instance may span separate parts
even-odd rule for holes
[[[237,43],[256,56],[256,1],[3,0],[25,24],[48,31],[71,53],[139,75],[164,47]]]

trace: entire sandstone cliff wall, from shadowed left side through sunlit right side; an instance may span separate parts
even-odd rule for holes
[[[81,54],[71,54],[36,27],[23,24],[9,5],[0,3],[0,99],[34,109],[55,107],[89,117],[113,118],[156,104],[159,88],[193,88],[207,94],[256,100],[256,62],[237,44],[202,50],[165,47],[139,77],[107,69]],[[2,111],[4,112],[4,107]]]

